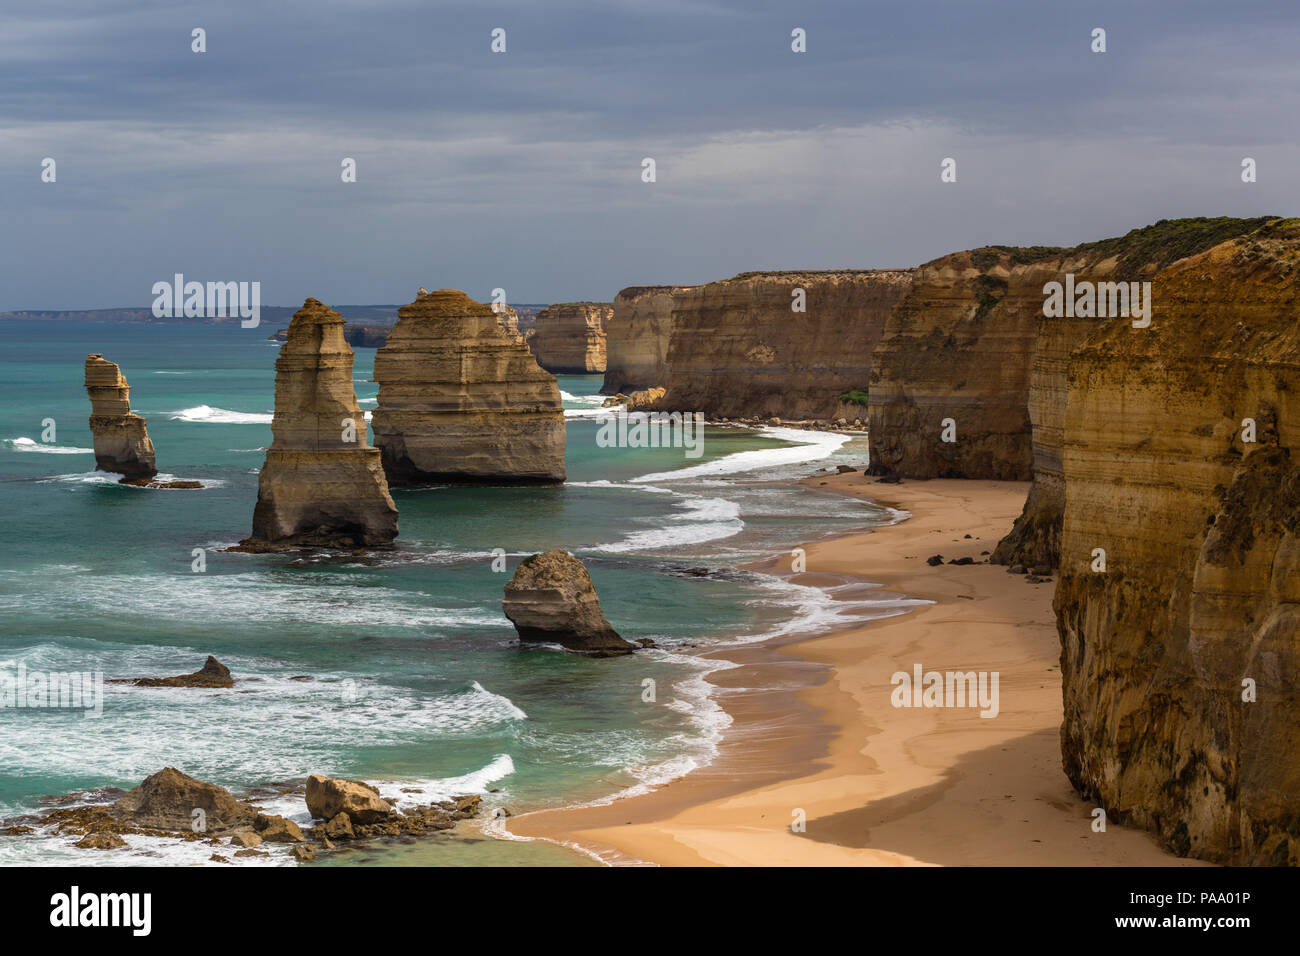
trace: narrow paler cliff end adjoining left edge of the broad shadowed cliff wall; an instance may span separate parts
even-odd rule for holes
[[[601,393],[662,386],[668,381],[673,297],[690,286],[632,286],[614,297],[606,325],[604,384]]]

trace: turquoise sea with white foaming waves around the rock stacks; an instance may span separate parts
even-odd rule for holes
[[[372,557],[225,553],[250,532],[270,442],[272,330],[0,321],[0,689],[20,665],[29,675],[133,678],[186,674],[208,654],[237,678],[229,691],[105,684],[99,717],[0,706],[0,819],[51,795],[133,787],[164,766],[237,792],[325,773],[406,801],[484,793],[489,810],[514,813],[608,799],[715,753],[729,718],[707,675],[725,665],[693,649],[872,614],[740,567],[888,520],[790,483],[861,467],[863,441],[708,427],[697,459],[680,447],[601,447],[601,376],[560,377],[563,486],[394,490],[398,548]],[[203,490],[130,488],[94,471],[88,352],[121,365],[160,471]],[[367,410],[373,359],[356,350]],[[549,548],[581,557],[615,628],[658,648],[614,659],[521,648],[502,589],[523,557]],[[493,567],[495,549],[504,571]],[[655,702],[642,700],[647,678]],[[266,805],[309,822],[300,796]],[[0,864],[202,864],[212,852],[127,839],[108,853],[44,831],[0,836]],[[485,834],[333,861],[590,862]]]

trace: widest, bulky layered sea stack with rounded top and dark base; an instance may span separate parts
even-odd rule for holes
[[[372,425],[393,484],[564,480],[555,377],[490,307],[455,289],[398,311],[374,356]]]

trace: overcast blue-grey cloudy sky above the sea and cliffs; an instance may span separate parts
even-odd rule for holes
[[[10,3],[0,311],[177,272],[610,300],[1297,215],[1297,49],[1294,0]]]

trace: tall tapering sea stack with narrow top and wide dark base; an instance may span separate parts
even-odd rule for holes
[[[257,480],[252,537],[242,550],[376,548],[393,542],[398,510],[352,388],[343,319],[307,299],[276,359],[274,440]]]

